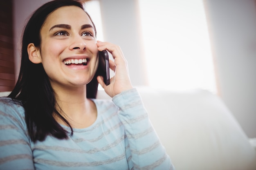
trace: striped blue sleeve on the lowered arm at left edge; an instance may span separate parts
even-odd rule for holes
[[[0,170],[34,170],[24,109],[0,99]]]

